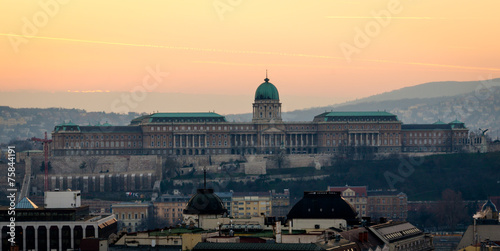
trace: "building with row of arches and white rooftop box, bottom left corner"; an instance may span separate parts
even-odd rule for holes
[[[80,205],[80,191],[45,192],[45,207],[23,198],[15,209],[15,242],[19,250],[78,250],[85,238],[107,240],[116,233],[114,215],[90,215]],[[9,207],[0,207],[0,250],[8,250]]]

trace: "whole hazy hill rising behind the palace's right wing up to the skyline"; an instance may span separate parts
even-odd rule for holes
[[[402,98],[403,97],[403,98]],[[500,129],[500,78],[487,81],[432,82],[343,104],[285,112],[285,121],[312,121],[325,111],[387,111],[403,123],[465,122],[471,129]],[[228,121],[250,121],[251,114],[226,115]]]

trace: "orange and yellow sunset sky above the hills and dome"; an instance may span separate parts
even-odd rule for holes
[[[0,105],[13,107],[244,113],[267,70],[287,111],[500,76],[496,0],[0,6]]]

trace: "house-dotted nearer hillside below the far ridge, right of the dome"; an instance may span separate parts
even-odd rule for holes
[[[399,92],[392,94],[398,95]],[[387,111],[397,115],[405,124],[432,124],[439,120],[448,123],[458,119],[471,130],[488,128],[490,137],[496,139],[500,136],[500,126],[497,123],[500,120],[500,87],[483,88],[454,96],[442,93],[442,96],[432,98],[396,99],[390,93],[383,96],[387,100],[374,96],[341,105],[284,112],[283,119],[311,121],[314,116],[325,111]],[[251,114],[227,115],[226,118],[228,121],[249,121]]]

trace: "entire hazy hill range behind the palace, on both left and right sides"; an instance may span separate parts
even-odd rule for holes
[[[500,129],[500,78],[487,81],[432,82],[374,95],[343,104],[313,107],[283,113],[285,121],[312,121],[325,111],[385,110],[398,115],[403,123],[450,122],[458,119],[471,129],[488,128],[496,138]],[[105,112],[87,112],[65,108],[11,108],[0,106],[0,143],[12,139],[42,137],[54,126],[72,121],[80,125],[108,122],[128,125],[141,114],[126,115]],[[226,115],[228,121],[251,121],[252,115]]]

